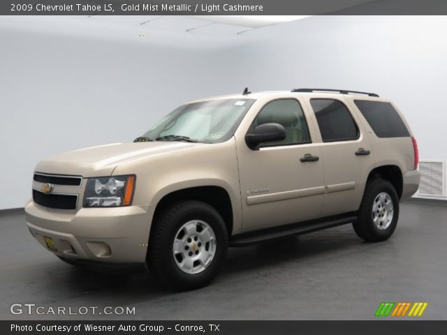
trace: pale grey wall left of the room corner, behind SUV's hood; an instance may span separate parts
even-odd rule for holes
[[[0,27],[0,209],[31,198],[41,158],[130,142],[179,104],[234,89],[215,50],[100,34]]]

